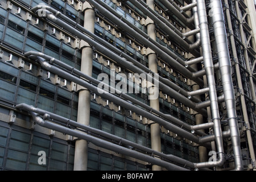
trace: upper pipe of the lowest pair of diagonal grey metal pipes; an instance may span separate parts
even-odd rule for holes
[[[49,111],[42,110],[42,109],[36,108],[34,106],[27,105],[27,104],[18,104],[15,107],[19,110],[26,110],[30,113],[33,112],[33,113],[37,113],[37,114],[40,114],[40,115],[48,114],[50,118],[55,119],[56,121],[60,121],[61,123],[64,123],[65,126],[68,126],[68,127],[74,126],[78,129],[84,130],[86,133],[90,133],[90,135],[93,135],[93,134],[99,135],[101,137],[105,137],[108,140],[113,140],[116,143],[118,143],[119,145],[130,146],[130,147],[133,147],[134,150],[141,150],[143,152],[146,152],[149,155],[151,154],[151,155],[154,155],[154,156],[158,156],[162,159],[170,160],[171,162],[179,163],[180,165],[187,166],[189,168],[195,168],[194,164],[192,162],[189,162],[188,160],[179,158],[175,155],[163,154],[162,152],[158,152],[158,151],[152,150],[151,148],[144,147],[141,144],[134,143],[134,142],[131,142],[130,140],[127,140],[127,139],[124,139],[124,138],[121,138],[121,137],[117,137],[116,135],[110,134],[108,132],[105,132],[105,131],[102,131],[102,130],[99,130],[99,129],[95,129],[95,128],[90,127],[90,126],[83,125],[81,123],[78,123],[76,121],[72,121],[71,119],[64,118],[60,115],[51,113]]]

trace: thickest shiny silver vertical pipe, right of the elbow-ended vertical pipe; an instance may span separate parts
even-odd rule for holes
[[[226,111],[229,121],[230,138],[232,140],[235,170],[243,169],[242,155],[240,150],[240,133],[236,115],[236,100],[231,76],[231,63],[229,57],[228,41],[226,39],[226,27],[221,1],[210,0],[211,11],[214,12],[212,25],[216,40],[217,54],[222,78],[222,87],[225,97]]]

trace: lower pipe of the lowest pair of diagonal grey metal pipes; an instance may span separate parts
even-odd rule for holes
[[[143,160],[145,162],[149,162],[149,163],[152,163],[152,164],[157,164],[159,166],[165,167],[168,170],[188,171],[188,169],[186,169],[186,168],[176,166],[175,164],[168,163],[164,160],[159,160],[159,159],[156,159],[152,156],[144,155],[140,152],[130,150],[129,148],[119,146],[118,144],[110,143],[110,142],[107,142],[105,140],[98,139],[96,137],[90,136],[88,134],[84,134],[80,131],[75,131],[75,130],[69,129],[67,127],[60,126],[60,125],[57,125],[55,123],[46,121],[45,119],[41,118],[40,115],[38,115],[34,112],[30,112],[30,114],[31,114],[33,120],[38,125],[40,125],[42,127],[46,127],[47,129],[59,131],[60,133],[64,133],[64,134],[71,135],[73,137],[84,139],[86,141],[89,141],[89,142],[95,144],[98,147],[106,148],[108,150],[115,151],[115,152],[118,152],[118,153],[123,154],[123,155],[131,156],[132,158]]]

